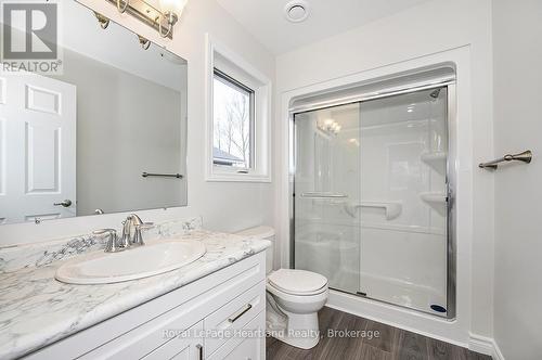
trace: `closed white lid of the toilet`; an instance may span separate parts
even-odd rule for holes
[[[276,270],[268,280],[273,286],[289,294],[307,295],[327,285],[327,279],[319,273],[294,269]]]

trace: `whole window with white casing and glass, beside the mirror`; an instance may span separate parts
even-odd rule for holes
[[[271,80],[207,35],[206,181],[271,182]]]

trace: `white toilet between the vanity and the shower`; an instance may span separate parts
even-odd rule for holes
[[[318,311],[327,301],[327,279],[319,273],[279,269],[273,271],[274,230],[257,227],[238,232],[271,241],[266,254],[267,331],[281,342],[310,349],[318,345]]]

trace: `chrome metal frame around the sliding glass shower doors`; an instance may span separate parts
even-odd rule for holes
[[[354,103],[363,103],[371,100],[384,99],[389,97],[396,97],[406,93],[413,93],[423,90],[431,90],[439,88],[447,88],[447,129],[448,129],[448,156],[446,163],[446,184],[447,184],[447,313],[446,317],[438,316],[434,312],[424,311],[408,306],[402,306],[398,304],[388,303],[385,300],[372,298],[370,296],[362,296],[359,294],[353,294],[349,292],[344,292],[340,290],[335,290],[341,293],[350,294],[353,296],[359,296],[363,299],[377,301],[382,304],[388,304],[391,306],[418,311],[422,313],[427,313],[440,319],[454,320],[456,317],[456,215],[455,215],[455,194],[456,194],[456,171],[455,164],[457,157],[457,145],[455,133],[455,121],[456,121],[456,79],[455,76],[442,77],[437,81],[431,79],[429,81],[421,81],[416,83],[409,83],[404,87],[393,87],[392,89],[383,89],[376,93],[360,94],[358,97],[348,97],[344,99],[337,99],[334,102],[322,102],[321,104],[314,104],[311,106],[300,106],[288,110],[288,175],[289,175],[289,194],[288,194],[288,222],[289,222],[289,267],[295,269],[295,173],[296,173],[296,159],[297,159],[297,128],[295,124],[295,115],[330,108],[334,106],[348,105]],[[388,90],[388,91],[386,91]],[[331,92],[330,94],[333,94]]]

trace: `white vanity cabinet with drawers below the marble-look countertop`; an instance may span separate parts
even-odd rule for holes
[[[25,359],[264,359],[264,279],[262,252]]]

